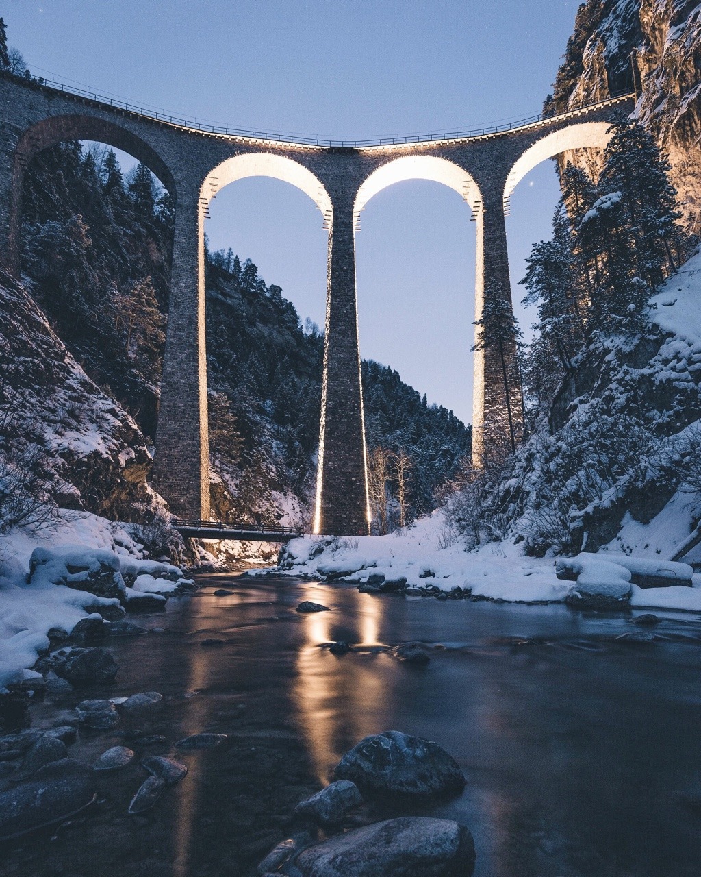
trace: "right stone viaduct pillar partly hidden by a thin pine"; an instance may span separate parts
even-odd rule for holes
[[[503,305],[499,309],[502,319],[513,315],[502,188],[495,187],[493,197],[485,193],[484,206],[478,213],[476,321],[485,315],[485,304],[492,313],[490,305]],[[476,326],[476,344],[479,334],[480,327]],[[483,349],[475,351],[472,403],[475,467],[512,453],[523,439],[523,400],[515,341],[494,336],[493,325],[485,326]]]

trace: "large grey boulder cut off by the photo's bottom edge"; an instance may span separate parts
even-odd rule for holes
[[[294,865],[302,877],[470,877],[475,845],[464,825],[402,816],[309,846]]]

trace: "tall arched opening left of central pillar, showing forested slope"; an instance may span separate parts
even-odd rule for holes
[[[245,153],[208,175],[201,204],[212,517],[309,526],[329,195],[298,162]]]

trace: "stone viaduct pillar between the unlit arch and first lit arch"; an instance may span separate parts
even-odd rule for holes
[[[204,240],[196,193],[179,192],[175,210],[153,481],[174,514],[209,519]]]

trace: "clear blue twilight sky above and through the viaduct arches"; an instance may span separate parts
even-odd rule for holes
[[[360,138],[523,118],[550,90],[578,0],[4,0],[11,46],[37,75],[185,118]],[[507,219],[514,302],[549,235],[552,162],[520,182]],[[231,184],[214,248],[251,258],[302,321],[323,325],[326,232],[287,183]],[[368,203],[357,239],[361,353],[471,420],[475,225],[438,183]],[[517,309],[524,329],[532,315]]]

